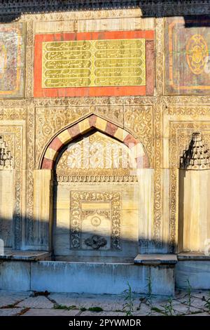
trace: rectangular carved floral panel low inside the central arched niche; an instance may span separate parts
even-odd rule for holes
[[[120,192],[88,192],[88,191],[72,191],[71,192],[71,213],[70,213],[70,249],[84,249],[84,244],[81,242],[82,223],[85,220],[84,209],[85,204],[88,204],[88,210],[91,209],[92,214],[86,214],[85,216],[93,216],[91,219],[93,226],[99,226],[101,224],[103,216],[106,218],[109,216],[110,228],[111,228],[111,242],[109,249],[120,250],[120,230],[121,230],[121,194]],[[106,213],[97,213],[96,203],[104,204]],[[107,212],[107,206],[109,212]],[[101,206],[103,208],[103,206]],[[103,210],[101,210],[103,211]],[[94,236],[94,235],[92,235]],[[104,237],[90,237],[85,245],[92,247],[92,249],[99,249],[106,245],[100,245],[99,239]],[[91,242],[90,242],[91,241]]]

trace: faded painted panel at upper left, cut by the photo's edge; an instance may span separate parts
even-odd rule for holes
[[[24,96],[25,27],[0,25],[0,98]]]

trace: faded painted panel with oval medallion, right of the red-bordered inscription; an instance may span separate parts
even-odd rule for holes
[[[209,93],[210,20],[165,19],[165,93]]]

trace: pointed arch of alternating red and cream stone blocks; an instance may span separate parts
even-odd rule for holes
[[[59,151],[66,145],[71,142],[71,140],[83,136],[88,131],[91,131],[93,128],[96,128],[102,133],[106,133],[108,136],[116,138],[120,142],[130,147],[135,154],[135,159],[137,161],[137,168],[148,168],[148,157],[144,150],[142,143],[134,138],[132,134],[125,131],[125,129],[120,128],[119,126],[112,124],[110,121],[98,117],[96,114],[90,115],[69,128],[65,128],[64,131],[58,133],[55,138],[48,145],[45,150],[42,160],[41,160],[41,169],[53,169],[55,160]],[[134,149],[133,149],[134,148]]]

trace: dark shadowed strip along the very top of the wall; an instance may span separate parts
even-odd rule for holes
[[[29,3],[30,2],[30,3]],[[52,0],[47,5],[45,1],[42,0],[32,0],[21,1],[21,6],[18,6],[19,1],[10,1],[10,3],[0,4],[0,22],[13,22],[18,20],[22,14],[25,13],[53,13],[53,12],[66,12],[66,11],[97,11],[97,10],[114,10],[114,9],[129,9],[129,8],[140,8],[142,13],[142,18],[162,18],[162,17],[170,17],[170,16],[183,16],[185,18],[186,13],[190,14],[190,6],[193,4],[187,4],[184,6],[183,1],[177,0],[169,0],[167,4],[165,1],[137,1],[137,0]],[[199,1],[197,1],[199,2]],[[205,4],[203,5],[205,6]],[[198,13],[202,15],[202,13]],[[198,15],[190,16],[193,18],[192,22],[187,22],[186,27],[201,27],[201,26],[209,26],[209,22],[194,22]],[[188,18],[188,16],[186,16]],[[207,16],[208,21],[208,16]]]

